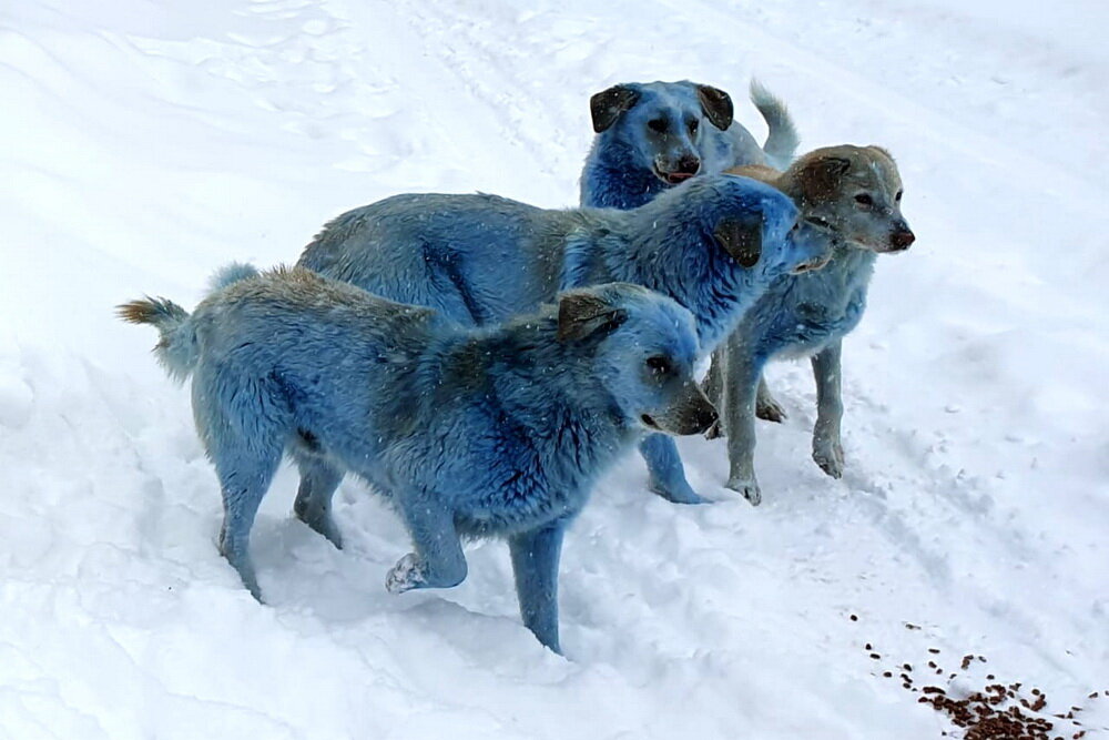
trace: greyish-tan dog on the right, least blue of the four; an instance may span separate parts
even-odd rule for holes
[[[897,164],[881,146],[817,149],[785,172],[766,166],[731,172],[779,189],[796,203],[803,223],[827,230],[841,244],[822,270],[777,278],[713,355],[708,389],[721,407],[722,422],[710,436],[728,434],[728,486],[757,504],[754,418],[785,418],[762,381],[764,363],[775,355],[812,356],[817,403],[813,459],[830,476],[841,477],[842,339],[862,318],[875,255],[902,252],[916,236],[901,212]]]

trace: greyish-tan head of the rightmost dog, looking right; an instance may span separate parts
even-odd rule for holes
[[[916,240],[901,212],[902,181],[879,146],[827,146],[794,162],[779,181],[802,216],[826,222],[852,247],[904,252]]]

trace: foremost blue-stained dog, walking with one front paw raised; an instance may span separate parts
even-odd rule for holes
[[[153,324],[223,491],[220,549],[261,599],[251,526],[284,454],[295,511],[340,546],[330,497],[345,473],[395,506],[415,551],[386,587],[466,577],[460,537],[506,537],[520,612],[559,650],[558,561],[593,481],[645,429],[695,434],[716,413],[693,378],[690,312],[628,284],[568,291],[537,315],[467,328],[307,270],[234,266],[192,315],[120,307]]]

